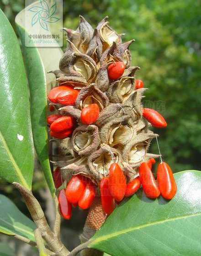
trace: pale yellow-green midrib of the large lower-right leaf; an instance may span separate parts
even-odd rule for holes
[[[178,216],[178,217],[173,217],[173,218],[164,219],[164,220],[153,221],[152,223],[139,225],[139,226],[132,227],[132,228],[129,228],[129,229],[122,229],[121,231],[114,232],[114,233],[109,234],[109,235],[103,235],[103,236],[100,236],[97,239],[91,240],[91,243],[90,243],[89,247],[91,247],[93,244],[100,243],[101,241],[108,240],[108,239],[111,239],[111,238],[116,237],[118,235],[123,235],[123,234],[129,233],[129,232],[135,231],[135,230],[143,229],[143,228],[154,226],[154,225],[157,225],[157,224],[163,224],[163,223],[174,221],[174,220],[177,220],[177,219],[186,219],[186,218],[191,218],[191,217],[195,217],[195,216],[199,216],[199,215],[201,215],[201,213],[190,214],[190,215]]]

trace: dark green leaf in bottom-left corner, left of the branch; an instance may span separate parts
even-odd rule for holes
[[[0,195],[0,232],[6,235],[21,235],[35,241],[36,225],[28,219],[12,201]]]

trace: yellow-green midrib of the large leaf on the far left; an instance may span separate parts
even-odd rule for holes
[[[5,139],[4,139],[4,136],[3,136],[3,134],[1,132],[0,132],[0,139],[1,139],[2,143],[3,143],[3,145],[4,145],[4,148],[5,148],[5,151],[7,152],[8,157],[11,160],[11,163],[12,163],[12,165],[14,167],[16,175],[18,176],[19,180],[21,181],[21,185],[29,189],[29,186],[26,183],[26,180],[23,177],[23,175],[21,173],[21,170],[20,170],[19,166],[17,165],[17,163],[16,163],[16,161],[15,161],[15,159],[14,159],[14,157],[13,157],[13,155],[12,155],[12,153],[11,153],[11,151],[10,151],[10,149],[9,149]]]

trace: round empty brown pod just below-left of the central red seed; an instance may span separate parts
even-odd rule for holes
[[[76,128],[72,135],[72,148],[80,156],[90,155],[100,144],[98,127],[82,125]]]

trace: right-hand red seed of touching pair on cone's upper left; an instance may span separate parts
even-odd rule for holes
[[[62,91],[58,94],[57,101],[64,106],[74,106],[78,95],[78,90],[71,89],[68,91]]]

